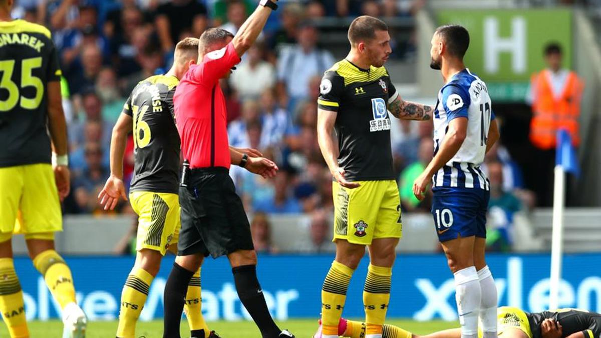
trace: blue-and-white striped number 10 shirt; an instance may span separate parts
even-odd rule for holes
[[[433,190],[440,188],[490,189],[480,169],[486,153],[492,112],[488,88],[478,76],[464,69],[453,75],[438,93],[434,110],[434,155],[440,149],[454,118],[468,119],[468,131],[459,151],[433,177]]]

